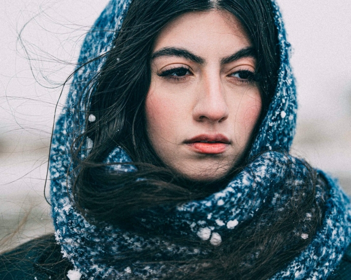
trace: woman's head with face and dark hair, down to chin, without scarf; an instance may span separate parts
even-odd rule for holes
[[[134,162],[191,179],[225,175],[274,93],[276,34],[270,0],[133,0],[89,100],[90,158],[119,145]],[[172,80],[183,74],[187,81]]]

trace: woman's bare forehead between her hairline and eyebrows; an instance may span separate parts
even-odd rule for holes
[[[160,32],[154,51],[164,47],[182,47],[197,53],[221,53],[250,46],[238,19],[227,11],[190,12],[169,22]]]

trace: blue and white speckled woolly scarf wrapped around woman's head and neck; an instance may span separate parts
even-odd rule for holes
[[[94,25],[94,32],[86,36],[78,65],[110,49],[115,32],[106,30],[120,30],[129,4],[130,0],[112,0],[107,5]],[[254,159],[223,190],[206,199],[192,201],[166,212],[162,207],[154,209],[152,213],[145,211],[141,220],[150,222],[167,236],[202,240],[217,246],[228,234],[235,232],[240,223],[253,217],[259,210],[284,204],[288,197],[281,195],[277,186],[287,172],[286,166],[294,171],[297,180],[306,176],[307,169],[302,161],[274,152],[279,149],[288,151],[293,142],[297,101],[289,65],[290,45],[286,41],[279,9],[274,1],[272,5],[278,29],[281,65],[275,95],[250,150],[250,157]],[[69,183],[67,187],[66,174],[72,170],[69,151],[76,135],[72,127],[77,123],[84,127],[85,119],[84,112],[73,114],[72,111],[77,102],[81,102],[78,93],[84,91],[83,81],[97,73],[103,63],[104,59],[96,60],[75,73],[66,107],[56,122],[50,158],[56,241],[61,244],[63,256],[74,265],[75,270],[68,275],[72,279],[81,276],[86,279],[157,278],[172,269],[162,261],[175,258],[185,260],[207,252],[167,243],[158,237],[138,236],[111,225],[94,226],[84,219],[70,200],[72,186]],[[258,154],[261,155],[255,157]],[[130,158],[116,147],[107,162],[130,162]],[[116,172],[131,172],[135,167],[116,164],[113,169]],[[326,279],[340,262],[351,241],[349,200],[335,181],[321,171],[318,173],[327,181],[329,191],[321,226],[315,236],[301,234],[303,239],[311,238],[309,245],[272,279]],[[275,194],[280,195],[279,201],[274,199]],[[138,259],[138,252],[156,246],[162,248],[159,262],[145,265]],[[125,261],[130,260],[126,258],[130,254],[135,254],[135,260]]]

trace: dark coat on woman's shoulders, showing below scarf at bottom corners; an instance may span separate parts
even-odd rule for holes
[[[24,243],[0,256],[0,280],[68,279],[72,264],[62,258],[53,235]],[[351,279],[351,245],[329,280]]]

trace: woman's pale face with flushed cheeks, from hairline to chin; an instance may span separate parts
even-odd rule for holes
[[[253,53],[224,11],[187,13],[160,32],[145,114],[150,141],[173,170],[215,180],[240,160],[261,111]]]

